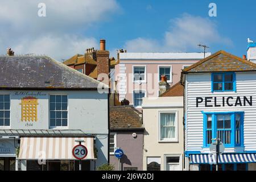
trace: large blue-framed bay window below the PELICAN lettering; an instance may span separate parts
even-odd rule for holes
[[[204,113],[204,146],[220,138],[226,147],[243,145],[243,112]]]

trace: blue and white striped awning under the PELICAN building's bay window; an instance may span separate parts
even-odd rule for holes
[[[191,154],[190,164],[215,164],[216,156],[213,154]],[[256,154],[221,154],[218,163],[256,163]]]

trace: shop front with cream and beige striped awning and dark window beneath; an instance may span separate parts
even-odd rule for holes
[[[76,140],[84,140],[88,154],[82,160],[82,171],[95,170],[94,137],[20,137],[18,157],[21,171],[78,171],[79,160],[72,150]]]

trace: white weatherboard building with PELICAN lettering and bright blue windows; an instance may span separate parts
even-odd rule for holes
[[[185,166],[215,170],[212,139],[225,150],[219,170],[256,169],[256,64],[225,51],[183,70]]]

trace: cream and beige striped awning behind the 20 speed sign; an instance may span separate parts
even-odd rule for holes
[[[28,160],[76,160],[72,155],[72,149],[82,139],[88,150],[88,155],[83,160],[95,159],[93,137],[21,137],[18,159]]]

